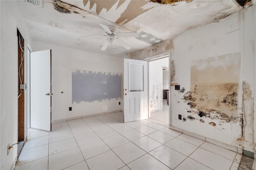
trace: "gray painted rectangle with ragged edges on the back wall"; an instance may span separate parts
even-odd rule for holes
[[[118,98],[121,98],[120,74],[100,71],[72,71],[72,103]]]

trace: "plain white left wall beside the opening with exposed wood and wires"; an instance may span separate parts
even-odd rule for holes
[[[25,43],[30,42],[25,23],[15,1],[0,1],[0,169],[14,168],[17,156],[17,145],[10,149],[7,156],[7,145],[18,141],[18,40],[17,27]],[[26,48],[25,48],[26,51]],[[26,117],[26,115],[25,115]],[[26,137],[26,136],[25,136]]]

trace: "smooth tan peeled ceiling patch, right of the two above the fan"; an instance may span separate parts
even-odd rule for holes
[[[140,14],[150,10],[151,8],[148,8],[148,9],[142,8],[148,2],[150,2],[150,0],[131,0],[126,10],[116,20],[116,24],[120,24],[124,21],[125,22],[123,24],[126,24],[127,22],[131,21],[133,18],[136,18]]]

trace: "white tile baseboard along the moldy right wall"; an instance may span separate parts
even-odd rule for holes
[[[200,134],[195,134],[195,133],[192,133],[192,132],[188,132],[186,130],[183,130],[181,128],[176,128],[176,127],[172,127],[172,126],[169,126],[170,129],[172,130],[175,130],[175,131],[178,131],[178,132],[181,132],[181,133],[184,133],[184,134],[187,134],[188,136],[192,136],[194,138],[198,138],[200,140],[204,140],[206,142],[209,142],[211,144],[215,144],[217,146],[220,146],[222,148],[225,148],[225,149],[228,149],[228,150],[232,150],[234,152],[237,152],[239,154],[242,154],[243,150],[242,148],[238,148],[238,147],[235,147],[235,146],[231,146],[229,144],[226,144],[226,143],[223,143],[223,142],[220,142],[220,141],[217,141],[217,140],[214,140],[214,139],[211,139],[211,138],[207,138],[205,136],[202,136]]]

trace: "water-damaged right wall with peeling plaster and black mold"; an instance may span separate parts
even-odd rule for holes
[[[256,152],[255,25],[254,5],[174,39],[171,126]]]

